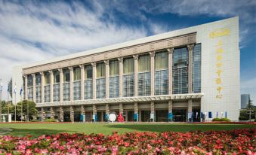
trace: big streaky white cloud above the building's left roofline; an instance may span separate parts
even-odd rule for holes
[[[14,65],[62,56],[79,50],[143,38],[140,27],[103,21],[103,8],[95,11],[73,2],[0,2],[0,78],[7,90]],[[7,99],[6,91],[4,99]]]

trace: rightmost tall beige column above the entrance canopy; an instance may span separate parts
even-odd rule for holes
[[[187,49],[189,50],[189,67],[188,67],[188,85],[189,93],[193,93],[193,49],[194,44],[188,44]]]

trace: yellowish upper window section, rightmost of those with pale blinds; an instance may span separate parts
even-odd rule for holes
[[[166,51],[156,53],[155,69],[161,70],[166,68],[168,68],[168,53]]]

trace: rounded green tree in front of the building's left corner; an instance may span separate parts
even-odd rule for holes
[[[32,120],[33,117],[37,117],[37,114],[39,113],[37,109],[35,108],[35,102],[29,101],[29,100],[23,100],[21,102],[17,103],[17,108],[16,108],[16,114],[18,117],[21,119],[21,107],[22,107],[22,113],[23,113],[23,118],[26,118],[27,116],[27,111],[29,111],[29,120]],[[29,110],[28,110],[29,108]],[[27,120],[27,118],[26,118]]]

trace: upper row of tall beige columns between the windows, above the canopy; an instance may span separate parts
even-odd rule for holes
[[[189,50],[189,66],[188,66],[188,92],[193,93],[193,44],[189,44],[187,46]],[[174,48],[168,48],[168,94],[172,94],[172,55]],[[155,76],[155,51],[150,52],[150,61],[151,61],[151,96],[154,96],[155,90],[154,90],[154,76]],[[134,58],[134,96],[137,96],[137,83],[138,83],[138,59],[139,55],[136,54],[133,56]],[[119,57],[119,97],[122,97],[122,76],[123,76],[123,57]],[[109,98],[109,60],[105,60],[105,66],[106,66],[106,99]],[[96,71],[96,65],[97,62],[91,62],[92,68],[93,68],[93,99],[96,99],[96,80],[97,80],[97,71]],[[79,65],[81,68],[81,98],[82,100],[85,99],[84,94],[84,81],[85,81],[85,65]],[[58,69],[60,71],[60,102],[63,102],[63,69]],[[73,96],[73,68],[69,67],[69,73],[70,73],[70,101],[72,101]],[[51,76],[51,102],[53,102],[53,81],[54,81],[54,74],[53,71],[49,71]],[[42,76],[42,102],[44,102],[44,74],[43,72],[40,73]],[[33,101],[35,102],[35,74],[32,74],[33,77]],[[25,78],[25,99],[27,98],[27,76],[24,76]]]

